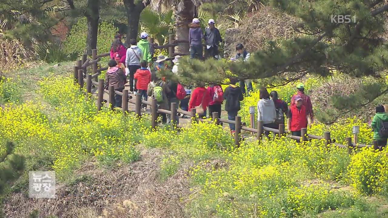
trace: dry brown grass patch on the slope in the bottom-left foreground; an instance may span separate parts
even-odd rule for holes
[[[57,184],[55,199],[13,194],[5,202],[5,217],[28,217],[34,209],[42,218],[185,217],[185,199],[190,194],[185,172],[178,171],[162,182],[160,157],[158,149],[143,148],[140,161],[129,165],[104,169],[96,162],[87,163],[74,172],[78,180]]]

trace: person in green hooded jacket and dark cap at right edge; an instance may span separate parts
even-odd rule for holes
[[[383,122],[388,122],[388,113],[385,112],[384,106],[379,105],[376,107],[376,114],[373,117],[371,126],[374,131],[373,140],[378,142],[378,146],[385,147],[387,145],[387,137],[383,136],[381,131],[381,125]]]

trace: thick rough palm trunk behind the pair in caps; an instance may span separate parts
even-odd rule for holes
[[[195,5],[191,0],[181,0],[180,5],[183,5],[181,8],[175,6],[175,21],[176,21],[176,39],[177,40],[189,40],[189,24],[191,24],[194,15],[196,14]],[[189,52],[189,44],[181,43],[178,48],[178,53],[187,53]]]

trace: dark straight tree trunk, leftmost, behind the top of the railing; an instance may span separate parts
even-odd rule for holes
[[[88,34],[86,36],[86,52],[92,55],[92,49],[97,48],[98,24],[100,19],[100,0],[88,0],[85,11],[87,19]]]

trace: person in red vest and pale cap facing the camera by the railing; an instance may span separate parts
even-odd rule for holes
[[[310,119],[307,114],[306,107],[303,105],[303,99],[298,95],[294,99],[295,104],[288,110],[287,129],[291,131],[294,136],[301,136],[300,130],[310,126]]]

